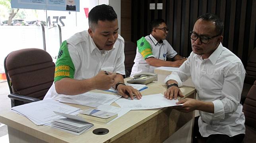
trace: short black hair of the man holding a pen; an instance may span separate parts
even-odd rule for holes
[[[98,23],[99,20],[101,21],[113,21],[117,19],[116,12],[112,8],[112,6],[108,6],[106,4],[102,4],[99,6],[95,6],[89,12],[89,27],[93,28],[94,25]]]

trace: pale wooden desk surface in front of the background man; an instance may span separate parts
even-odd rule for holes
[[[157,74],[157,81],[160,83],[164,83],[164,80],[167,76],[169,76],[172,71],[168,71],[168,70],[163,70],[163,69],[154,69],[154,73]],[[165,83],[164,83],[165,84]],[[182,83],[184,86],[191,86],[191,87],[195,87],[191,77],[188,78],[188,80],[186,80],[185,82]]]

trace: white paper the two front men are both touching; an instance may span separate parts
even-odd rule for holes
[[[142,110],[142,109],[156,109],[170,106],[177,106],[176,102],[178,100],[169,100],[164,97],[163,94],[153,94],[145,95],[142,99],[126,99],[121,98],[116,101],[116,103],[121,108],[131,109],[131,110]],[[182,104],[179,104],[182,105]]]

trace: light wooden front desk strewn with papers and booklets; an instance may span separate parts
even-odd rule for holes
[[[164,93],[166,86],[159,82],[147,85],[142,94]],[[194,98],[195,90],[181,88],[186,97]],[[95,90],[94,92],[101,92]],[[110,94],[110,92],[106,92]],[[68,104],[82,110],[89,107]],[[112,103],[116,105],[116,103]],[[91,107],[90,107],[91,108]],[[0,122],[8,126],[10,143],[162,143],[176,130],[194,117],[194,112],[182,113],[170,107],[153,110],[130,111],[110,124],[92,122],[94,127],[81,135],[62,132],[50,126],[37,126],[29,119],[12,111],[1,113]],[[95,135],[96,128],[107,128],[109,133]]]

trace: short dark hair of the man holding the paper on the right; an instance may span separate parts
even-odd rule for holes
[[[215,15],[213,13],[206,13],[206,14],[198,17],[198,19],[202,19],[202,20],[206,20],[206,21],[213,21],[215,24],[215,27],[216,27],[216,29],[215,29],[216,33],[221,35],[221,33],[223,31],[224,24],[217,15]]]

